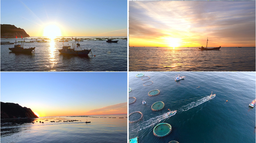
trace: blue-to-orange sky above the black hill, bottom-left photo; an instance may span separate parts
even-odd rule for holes
[[[40,117],[127,114],[127,72],[1,72],[1,102]]]

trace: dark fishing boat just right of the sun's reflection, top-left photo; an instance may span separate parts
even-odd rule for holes
[[[76,45],[76,41],[75,41],[75,45]],[[73,48],[70,48],[70,47],[71,46],[64,46],[64,44],[63,44],[63,47],[62,47],[62,49],[59,50],[59,52],[61,54],[79,55],[79,56],[86,56],[86,55],[88,55],[91,52],[91,49],[90,50],[85,50],[85,49],[82,50],[81,49],[80,51],[76,51],[74,44],[73,44]]]

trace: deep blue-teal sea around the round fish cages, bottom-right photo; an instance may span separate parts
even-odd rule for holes
[[[129,113],[140,111],[144,115],[143,120],[129,123],[129,139],[138,136],[140,143],[255,143],[256,107],[249,107],[256,98],[255,72],[141,73],[150,76],[153,84],[143,86],[149,80],[135,77],[138,72],[129,72],[129,97],[137,98],[129,105]],[[186,77],[176,82],[177,74]],[[148,96],[154,89],[160,94]],[[211,92],[216,96],[209,99]],[[165,108],[152,111],[151,105],[157,101],[164,102]],[[177,113],[168,117],[168,109]],[[129,120],[138,118],[140,114],[131,115]],[[159,123],[172,126],[168,136],[153,135],[153,128]]]

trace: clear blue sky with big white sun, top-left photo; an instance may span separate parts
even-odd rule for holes
[[[50,25],[56,36],[127,36],[127,0],[1,0],[0,6],[1,24],[30,36],[48,36]]]

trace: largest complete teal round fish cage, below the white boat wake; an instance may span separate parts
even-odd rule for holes
[[[160,123],[155,126],[153,133],[157,137],[165,137],[171,133],[171,125],[167,123]]]

